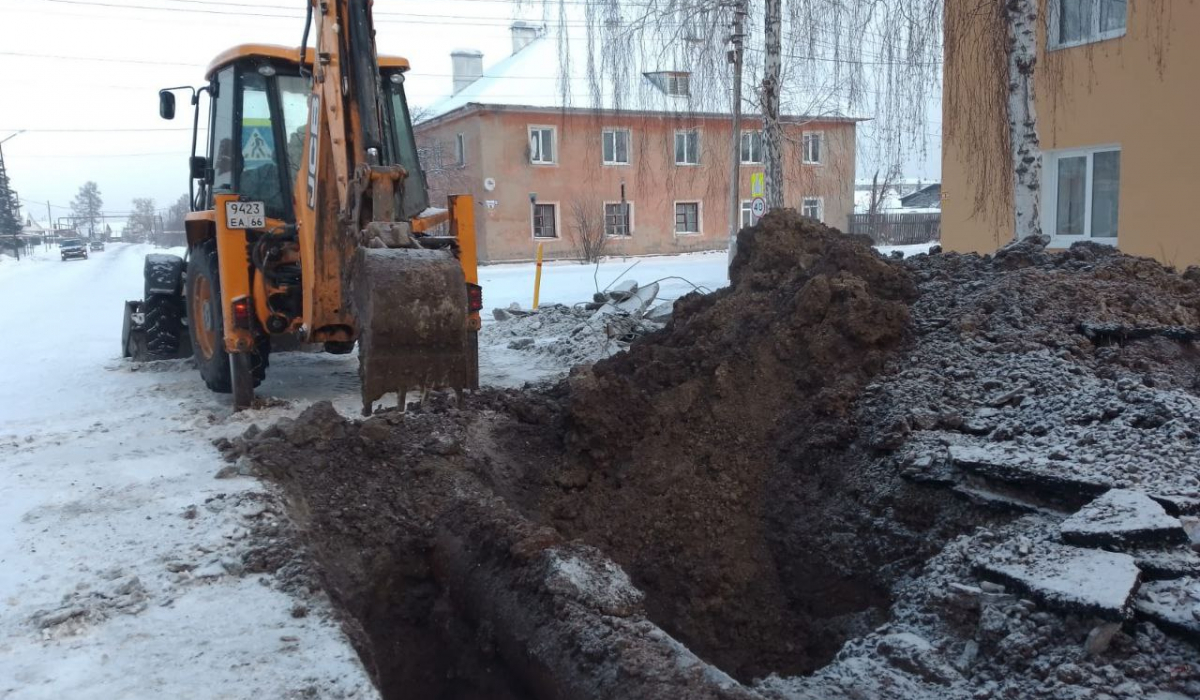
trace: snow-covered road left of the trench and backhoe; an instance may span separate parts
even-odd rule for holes
[[[262,486],[214,479],[212,438],[292,411],[120,359],[150,250],[0,262],[0,698],[372,698],[328,604],[241,570]]]

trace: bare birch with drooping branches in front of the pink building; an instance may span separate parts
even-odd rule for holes
[[[992,0],[995,4],[995,0]],[[782,207],[785,115],[871,118],[870,158],[895,169],[928,148],[928,103],[941,89],[943,0],[749,0],[748,114],[763,122],[768,208]],[[582,8],[580,8],[582,6]],[[623,109],[648,89],[638,73],[686,66],[700,86],[679,112],[730,112],[732,0],[541,0],[559,36],[563,107]],[[582,44],[566,41],[584,28]],[[762,28],[755,31],[755,26]],[[582,54],[582,55],[581,55]],[[584,83],[577,85],[586,66]],[[886,161],[886,162],[883,162]],[[890,166],[890,168],[889,168]]]

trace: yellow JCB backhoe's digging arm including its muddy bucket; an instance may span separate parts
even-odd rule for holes
[[[308,340],[358,340],[365,414],[389,391],[403,405],[409,389],[470,387],[463,253],[402,211],[408,173],[385,143],[371,2],[310,0],[308,14],[317,41],[295,185]]]

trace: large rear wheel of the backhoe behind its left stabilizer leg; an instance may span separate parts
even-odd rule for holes
[[[218,394],[229,394],[233,391],[233,371],[224,347],[224,304],[221,300],[218,269],[215,240],[192,246],[187,263],[187,328],[192,336],[192,357],[196,358],[204,384]],[[264,334],[251,353],[251,373],[256,387],[266,378],[270,352],[270,336]]]

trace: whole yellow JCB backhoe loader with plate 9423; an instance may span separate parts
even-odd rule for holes
[[[126,357],[190,353],[239,408],[272,337],[334,353],[358,343],[364,413],[389,391],[478,387],[474,202],[428,205],[408,67],[377,56],[370,2],[310,0],[300,49],[234,47],[206,85],[160,91],[164,119],[176,90],[194,109],[188,252],[146,256],[145,298],[126,303]]]

